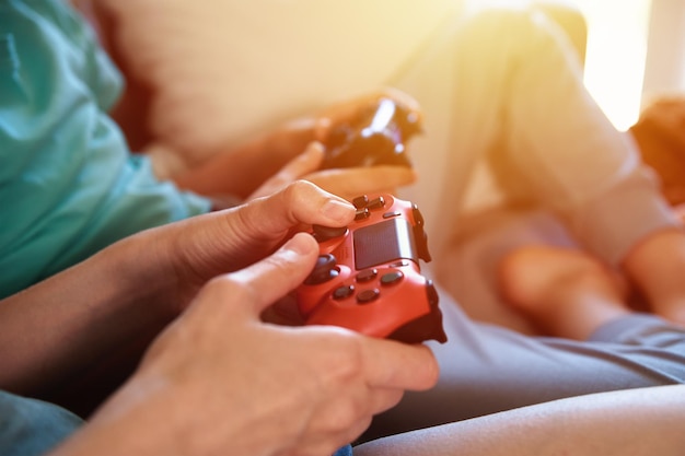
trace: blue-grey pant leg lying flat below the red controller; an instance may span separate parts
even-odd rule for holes
[[[397,407],[376,417],[365,437],[685,379],[685,329],[653,315],[617,319],[578,342],[474,323],[449,299],[442,299],[441,307],[449,341],[430,342],[441,367],[438,385],[406,394]]]

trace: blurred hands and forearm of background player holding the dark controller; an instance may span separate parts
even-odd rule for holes
[[[278,179],[282,180],[283,176],[288,175],[291,182],[294,175],[295,178],[315,182],[326,190],[341,196],[357,196],[410,184],[415,179],[414,173],[399,166],[382,166],[380,169],[328,169],[315,173],[321,164],[321,157],[310,156],[306,159],[305,167],[301,166],[303,162],[300,160],[298,165],[287,168],[293,160],[298,161],[302,151],[306,153],[307,145],[313,141],[325,143],[335,127],[349,124],[351,119],[360,116],[359,113],[374,106],[380,97],[391,97],[408,112],[420,116],[420,107],[414,98],[400,91],[386,87],[378,93],[339,102],[313,116],[292,120],[251,141],[217,151],[207,161],[174,174],[172,178],[181,188],[201,195],[231,194],[241,198],[268,195],[269,190],[265,188],[268,189],[269,186],[260,187],[278,174],[280,174]],[[321,153],[323,151],[318,154]],[[379,188],[379,185],[382,187]]]

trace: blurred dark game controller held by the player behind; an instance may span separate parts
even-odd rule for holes
[[[378,104],[352,122],[335,128],[325,141],[323,168],[403,165],[411,166],[406,143],[421,132],[417,113],[391,98]]]

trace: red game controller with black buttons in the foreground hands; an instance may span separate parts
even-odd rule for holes
[[[385,194],[353,203],[351,225],[313,227],[321,255],[295,291],[305,324],[407,343],[445,342],[438,292],[420,273],[419,259],[431,258],[417,206]]]

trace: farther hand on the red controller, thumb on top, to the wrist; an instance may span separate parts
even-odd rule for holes
[[[349,202],[297,182],[269,197],[121,241],[116,248],[125,266],[117,268],[148,290],[149,303],[176,314],[208,280],[270,255],[293,232],[312,224],[345,226],[353,218]]]

